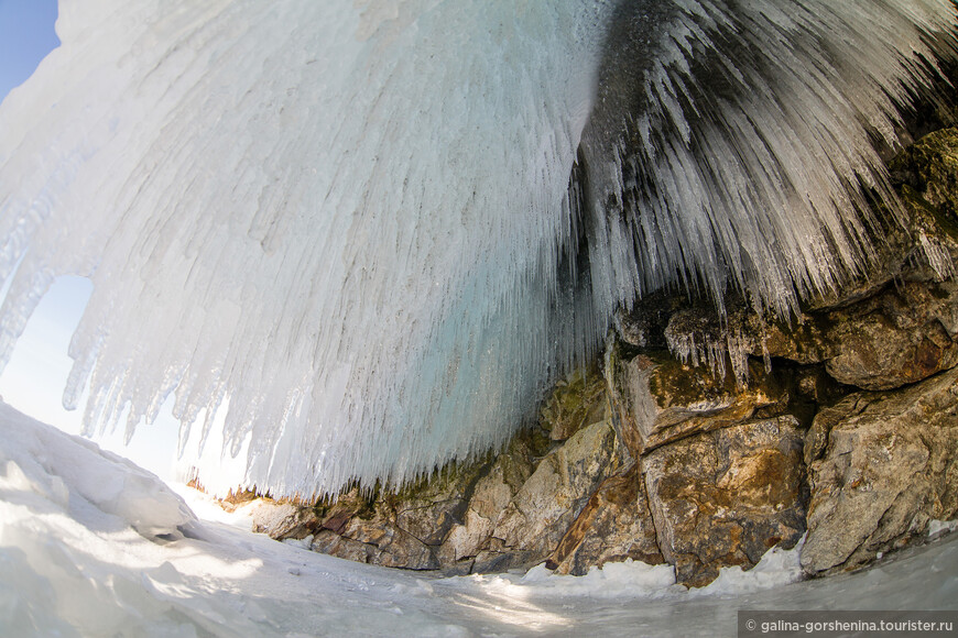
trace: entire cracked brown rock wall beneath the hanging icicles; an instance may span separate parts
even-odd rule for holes
[[[958,130],[892,163],[906,223],[787,320],[660,293],[505,450],[399,493],[265,504],[317,551],[447,574],[667,562],[699,586],[807,530],[809,575],[958,517]]]

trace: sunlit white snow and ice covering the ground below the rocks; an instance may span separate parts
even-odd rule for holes
[[[440,579],[251,534],[6,404],[0,428],[2,636],[734,636],[738,609],[958,608],[958,535],[815,582],[774,550],[692,592],[641,563]]]

